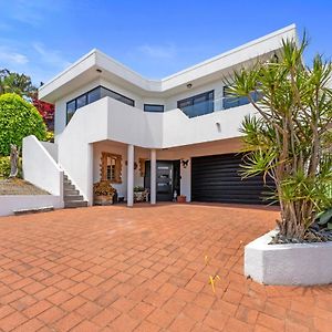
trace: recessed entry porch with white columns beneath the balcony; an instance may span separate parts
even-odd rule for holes
[[[190,201],[191,157],[235,153],[239,147],[238,139],[164,149],[96,142],[93,144],[93,184],[110,181],[116,189],[117,200],[126,201],[127,206],[134,205],[138,190],[148,193],[147,200],[152,205],[175,200],[179,195]]]

